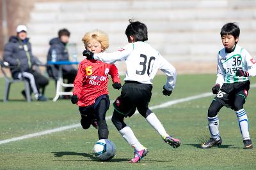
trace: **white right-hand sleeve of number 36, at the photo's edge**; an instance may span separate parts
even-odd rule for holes
[[[256,76],[256,61],[253,59],[250,53],[245,49],[243,49],[241,55],[245,57],[245,62],[246,62],[244,64],[245,71],[248,71],[250,76]]]

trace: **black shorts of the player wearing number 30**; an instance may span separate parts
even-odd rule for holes
[[[148,110],[148,103],[152,96],[152,85],[142,84],[137,81],[125,81],[121,96],[117,97],[113,106],[115,110],[124,115],[131,117],[136,108],[141,115],[145,115]]]

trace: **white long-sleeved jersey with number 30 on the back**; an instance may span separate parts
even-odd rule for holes
[[[173,90],[176,83],[176,70],[157,50],[145,42],[129,43],[117,52],[95,53],[93,59],[113,63],[125,60],[127,71],[124,81],[138,81],[152,84],[157,70],[160,69],[167,75],[164,85],[166,90]]]

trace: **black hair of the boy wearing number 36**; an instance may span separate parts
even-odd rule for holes
[[[240,34],[240,29],[239,29],[238,25],[234,22],[229,22],[229,23],[223,25],[223,27],[221,28],[221,31],[220,31],[220,35],[223,36],[223,35],[227,35],[227,34],[234,36],[235,39],[238,38],[239,34]]]

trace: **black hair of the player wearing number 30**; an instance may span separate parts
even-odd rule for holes
[[[134,41],[147,41],[148,40],[148,29],[145,24],[142,22],[134,22],[132,19],[129,19],[130,24],[125,30],[125,34],[128,39],[129,36],[133,36]]]

